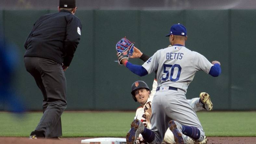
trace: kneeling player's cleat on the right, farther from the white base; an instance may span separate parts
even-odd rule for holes
[[[169,122],[169,128],[173,132],[174,141],[178,144],[185,144],[182,136],[182,126],[174,120],[171,120]]]

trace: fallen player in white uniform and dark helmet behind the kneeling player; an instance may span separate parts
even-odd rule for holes
[[[151,128],[150,118],[152,114],[151,104],[153,96],[156,93],[157,81],[154,79],[152,90],[149,90],[149,87],[144,81],[135,81],[132,84],[132,97],[135,102],[139,102],[141,104],[140,107],[137,108],[134,119],[141,120],[145,127]],[[200,98],[193,98],[191,100],[187,100],[189,105],[193,108],[194,111],[200,111],[206,109],[207,111],[212,110],[212,103],[210,100],[210,95],[206,92],[201,92],[199,95]],[[208,99],[203,102],[204,99]],[[129,139],[129,136],[127,137]],[[194,144],[195,141],[184,135],[185,144]],[[144,143],[142,136],[140,135],[137,139],[136,143]],[[175,144],[173,133],[170,129],[167,129],[163,138],[163,144]],[[204,140],[198,144],[207,143],[207,137],[204,137]]]

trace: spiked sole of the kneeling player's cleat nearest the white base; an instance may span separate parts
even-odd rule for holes
[[[126,143],[127,144],[134,144],[136,141],[135,139],[135,133],[139,127],[140,121],[138,119],[134,119],[133,122],[131,123],[131,129],[129,132],[126,134]]]

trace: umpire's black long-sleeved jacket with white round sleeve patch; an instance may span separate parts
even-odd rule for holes
[[[82,23],[67,10],[41,16],[24,43],[24,57],[43,57],[69,66],[79,44]]]

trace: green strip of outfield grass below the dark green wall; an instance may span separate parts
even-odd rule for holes
[[[256,137],[256,112],[198,112],[208,137]],[[63,137],[125,137],[134,112],[64,112]],[[0,112],[0,137],[28,137],[42,113]]]

